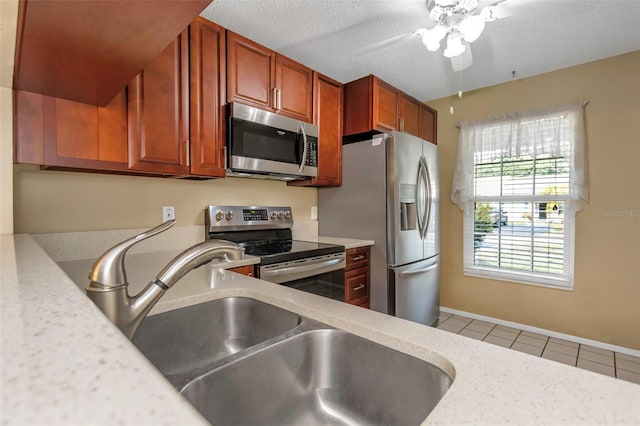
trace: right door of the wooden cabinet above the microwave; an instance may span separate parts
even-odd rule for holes
[[[313,71],[276,53],[276,112],[310,123],[313,120]]]

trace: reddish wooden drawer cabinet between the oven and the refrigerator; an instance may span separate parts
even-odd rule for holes
[[[370,253],[369,247],[358,247],[346,251],[344,301],[363,308],[369,308]]]

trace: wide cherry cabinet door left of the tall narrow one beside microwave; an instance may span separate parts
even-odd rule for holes
[[[188,31],[129,84],[129,169],[189,172]]]

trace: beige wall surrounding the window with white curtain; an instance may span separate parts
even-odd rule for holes
[[[638,76],[640,51],[465,93],[453,99],[453,116],[451,98],[428,102],[439,111],[443,306],[640,349]],[[581,99],[590,202],[576,216],[574,290],[463,275],[462,213],[450,201],[456,123]]]

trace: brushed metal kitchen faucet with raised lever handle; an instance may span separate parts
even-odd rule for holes
[[[244,248],[230,241],[208,240],[196,244],[171,260],[140,293],[130,296],[124,268],[127,250],[142,240],[166,231],[174,224],[175,220],[164,222],[116,244],[98,258],[89,273],[91,283],[86,288],[87,296],[129,339],[156,302],[187,272],[215,258],[240,260],[244,256]]]

